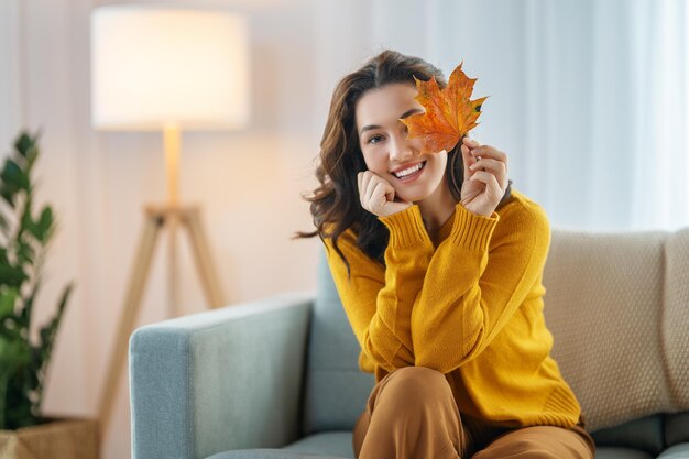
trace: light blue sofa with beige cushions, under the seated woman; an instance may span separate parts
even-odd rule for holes
[[[316,292],[134,331],[134,459],[353,457],[374,381],[325,256],[316,271]],[[597,458],[689,458],[689,229],[554,230],[544,285]]]

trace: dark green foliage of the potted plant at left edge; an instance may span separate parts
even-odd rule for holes
[[[72,291],[65,288],[57,312],[39,330],[33,346],[30,331],[41,260],[56,227],[51,206],[37,215],[33,211],[31,173],[40,154],[37,138],[21,133],[0,170],[0,428],[41,422],[46,369]]]

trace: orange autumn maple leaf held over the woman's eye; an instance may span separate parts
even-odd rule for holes
[[[422,140],[422,153],[449,152],[467,132],[478,125],[475,121],[481,114],[481,105],[488,97],[469,100],[475,78],[467,77],[461,69],[462,64],[455,68],[444,89],[438,87],[435,77],[428,81],[414,77],[418,90],[416,100],[426,112],[400,121],[408,128],[409,139]]]

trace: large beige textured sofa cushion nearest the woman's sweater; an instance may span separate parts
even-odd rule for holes
[[[667,250],[685,248],[688,238],[689,232],[675,234]],[[661,231],[554,231],[544,273],[545,315],[555,337],[553,354],[590,430],[689,408],[683,364],[689,347],[679,328],[687,329],[689,310],[681,300],[664,305],[666,269],[685,285],[671,286],[680,299],[689,271],[668,256],[666,240]]]

